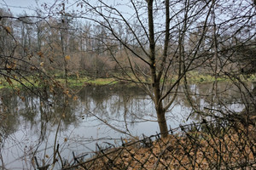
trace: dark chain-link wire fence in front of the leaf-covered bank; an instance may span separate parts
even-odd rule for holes
[[[102,149],[88,160],[74,156],[62,169],[256,169],[255,122],[218,118]],[[109,144],[110,145],[110,144]],[[80,161],[79,161],[80,160]]]

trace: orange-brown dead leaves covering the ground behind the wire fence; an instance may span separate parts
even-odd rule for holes
[[[87,161],[89,169],[239,169],[256,160],[255,126],[230,128],[224,134],[183,133],[158,139],[150,147],[139,142],[113,149]],[[255,165],[253,165],[255,166]],[[249,167],[250,168],[250,167]],[[252,167],[253,168],[253,167]]]

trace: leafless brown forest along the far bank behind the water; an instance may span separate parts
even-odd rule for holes
[[[149,48],[143,49],[134,38],[134,33],[142,34],[143,27],[137,26],[135,22],[131,23],[131,26],[136,28],[136,32],[131,33],[129,26],[123,23],[114,25],[115,33],[122,41],[124,40],[120,42],[113,37],[108,28],[92,21],[84,21],[77,14],[63,12],[63,5],[64,3],[60,3],[57,6],[60,14],[52,14],[52,16],[44,16],[43,12],[14,16],[8,9],[1,8],[2,74],[4,70],[12,69],[15,65],[15,69],[20,66],[21,71],[27,72],[44,67],[49,74],[62,77],[65,77],[66,71],[68,75],[73,76],[81,74],[90,77],[113,77],[114,73],[124,73],[123,68],[129,71],[131,65],[127,56],[131,57],[135,70],[149,74],[148,65],[142,59],[138,59],[136,54],[127,50],[123,44],[146,58],[143,50],[149,51]],[[224,75],[224,72],[229,71],[236,75],[255,72],[255,33],[251,30],[253,25],[250,21],[253,19],[248,18],[249,16],[244,17],[245,19],[242,20],[247,20],[247,23],[242,27],[239,26],[241,20],[238,20],[237,23],[232,23],[233,26],[218,31],[219,74]],[[188,30],[183,39],[183,48],[185,48],[183,53],[188,56],[189,53],[195,53],[195,46],[201,39],[204,23],[200,21],[193,25],[195,25],[193,29]],[[172,62],[178,63],[176,58],[178,58],[179,42],[176,33],[172,32],[170,37],[168,56]],[[193,62],[195,65],[193,71],[213,75],[216,64],[212,49],[215,33],[212,26],[207,26],[200,50],[196,51],[198,59]],[[143,43],[146,45],[148,42],[145,39]],[[155,49],[156,54],[161,54],[164,44],[157,42]],[[11,56],[15,56],[15,59]],[[177,74],[177,69],[173,71]]]

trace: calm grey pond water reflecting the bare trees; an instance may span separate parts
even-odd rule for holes
[[[194,106],[200,110],[212,105],[217,107],[221,99],[228,110],[242,111],[238,89],[226,82],[218,88],[218,94],[215,93],[218,99],[212,99],[212,84],[190,85]],[[35,156],[39,165],[50,164],[54,144],[60,144],[62,161],[70,162],[73,152],[76,156],[91,153],[96,150],[96,143],[120,144],[120,138],[159,133],[152,100],[140,88],[84,87],[77,92],[77,99],[69,99],[68,105],[61,94],[49,96],[55,105],[46,105],[34,94],[20,92],[17,96],[12,95],[11,90],[2,90],[0,169],[34,169],[32,158]],[[210,102],[213,100],[215,102]],[[178,94],[166,113],[168,126],[175,128],[200,121],[201,116],[191,111],[183,93]],[[55,168],[58,166],[60,162]]]

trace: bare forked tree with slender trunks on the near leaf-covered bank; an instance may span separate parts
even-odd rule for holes
[[[102,41],[122,71],[114,77],[137,83],[154,101],[160,133],[166,137],[166,111],[177,96],[180,82],[208,59],[202,58],[203,53],[199,52],[215,2],[131,0],[121,4],[83,0],[81,3],[87,13],[80,17],[103,26],[112,35],[113,42],[119,42],[124,48],[125,63],[111,50],[113,43]],[[189,32],[198,29],[197,20],[203,24],[197,42],[189,51]],[[119,33],[120,26],[126,37]],[[138,60],[148,69],[137,65]]]

